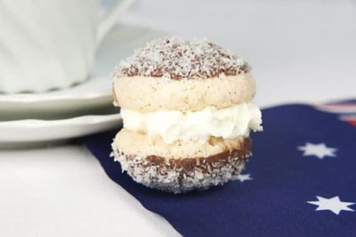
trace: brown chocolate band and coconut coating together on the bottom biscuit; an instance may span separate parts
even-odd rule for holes
[[[115,161],[137,183],[174,194],[207,189],[236,179],[247,157],[251,156],[251,139],[241,139],[240,149],[227,149],[209,157],[167,159],[155,155],[142,157],[125,154],[112,143]]]

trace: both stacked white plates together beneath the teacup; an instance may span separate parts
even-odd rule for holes
[[[98,49],[91,78],[65,90],[0,94],[0,147],[33,146],[90,135],[121,125],[112,105],[115,65],[163,33],[118,24]]]

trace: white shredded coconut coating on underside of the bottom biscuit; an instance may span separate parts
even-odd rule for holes
[[[115,143],[112,143],[115,162],[120,162],[122,172],[132,177],[135,181],[152,189],[185,193],[193,189],[208,189],[210,186],[222,185],[229,180],[236,179],[245,167],[245,158],[230,154],[224,162],[203,162],[194,169],[179,167],[177,164],[152,162],[140,155],[127,155],[120,152]]]

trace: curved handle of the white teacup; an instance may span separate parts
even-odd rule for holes
[[[96,33],[96,46],[99,46],[106,34],[109,33],[112,26],[117,23],[122,13],[132,4],[134,0],[122,0],[119,1],[110,11],[103,17],[98,24]]]

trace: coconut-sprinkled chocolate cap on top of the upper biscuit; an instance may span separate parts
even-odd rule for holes
[[[204,79],[236,75],[250,70],[247,63],[206,40],[169,37],[150,41],[122,60],[116,77],[152,76],[166,80]]]

